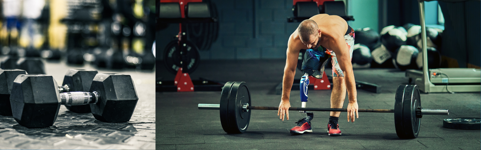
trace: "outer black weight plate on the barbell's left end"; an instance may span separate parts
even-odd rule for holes
[[[232,84],[234,82],[227,82],[224,87],[222,87],[222,92],[220,95],[220,109],[219,109],[219,114],[220,114],[220,124],[222,125],[222,129],[226,133],[232,133],[230,127],[229,127],[229,118],[228,118],[228,101],[229,101],[229,93],[230,93],[230,88],[232,87]]]

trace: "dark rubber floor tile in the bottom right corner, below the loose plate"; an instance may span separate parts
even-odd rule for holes
[[[456,141],[456,140],[445,140],[445,141],[428,141],[419,139],[419,142],[425,145],[428,148],[438,148],[444,150],[454,150],[454,149],[480,149],[480,142],[471,139],[465,141]]]

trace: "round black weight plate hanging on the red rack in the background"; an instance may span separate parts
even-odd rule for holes
[[[188,62],[182,62],[187,63],[187,68],[183,69],[184,72],[191,74],[192,72],[194,72],[197,66],[199,66],[200,54],[199,49],[195,44],[189,41],[186,41],[185,44],[187,47],[186,60],[188,60]],[[182,54],[180,54],[181,46],[183,45],[179,46],[176,39],[167,44],[164,50],[165,67],[174,75],[177,74],[178,69],[182,67],[182,64],[180,63],[182,61]]]

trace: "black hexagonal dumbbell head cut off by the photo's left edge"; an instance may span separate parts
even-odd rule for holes
[[[12,91],[13,80],[15,80],[18,75],[24,74],[27,74],[25,70],[0,69],[0,115],[12,115],[10,93]]]

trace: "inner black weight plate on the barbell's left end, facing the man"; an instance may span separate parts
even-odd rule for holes
[[[228,100],[229,127],[233,133],[244,133],[251,120],[251,111],[243,112],[242,104],[251,105],[251,94],[245,82],[235,82]]]

